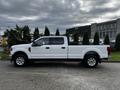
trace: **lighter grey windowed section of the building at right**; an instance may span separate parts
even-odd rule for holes
[[[101,39],[108,34],[110,40],[115,40],[120,33],[120,19],[91,24],[91,38],[94,37],[95,32],[98,32]]]

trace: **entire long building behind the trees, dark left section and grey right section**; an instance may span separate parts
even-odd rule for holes
[[[91,39],[94,38],[96,32],[98,32],[100,39],[104,39],[108,34],[111,41],[115,40],[118,33],[120,33],[120,19],[111,20],[102,23],[93,23],[87,26],[74,27],[66,30],[66,34],[71,36],[74,33],[83,36],[84,32],[88,32]]]

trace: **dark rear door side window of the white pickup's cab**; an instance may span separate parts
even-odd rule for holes
[[[50,45],[62,45],[64,44],[64,38],[49,38]]]

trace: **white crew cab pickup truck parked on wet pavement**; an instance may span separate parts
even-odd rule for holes
[[[65,36],[43,36],[30,44],[11,47],[11,62],[25,66],[30,61],[77,61],[96,67],[108,59],[109,45],[69,45]]]

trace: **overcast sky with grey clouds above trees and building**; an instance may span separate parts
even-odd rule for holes
[[[0,28],[28,25],[43,33],[120,17],[120,0],[0,0]]]

